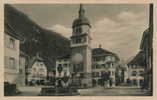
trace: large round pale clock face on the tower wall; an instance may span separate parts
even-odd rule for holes
[[[83,61],[83,56],[80,53],[75,53],[71,59],[73,64],[80,64]]]

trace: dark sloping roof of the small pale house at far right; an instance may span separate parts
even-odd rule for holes
[[[136,56],[127,64],[129,65],[138,65],[145,66],[146,62],[144,60],[144,53],[142,51],[138,52]]]

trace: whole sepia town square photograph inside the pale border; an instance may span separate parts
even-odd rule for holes
[[[4,4],[4,96],[153,96],[153,6]]]

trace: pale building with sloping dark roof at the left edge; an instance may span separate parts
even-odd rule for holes
[[[6,20],[4,32],[4,81],[18,85],[21,81],[19,80],[19,47],[22,38]]]

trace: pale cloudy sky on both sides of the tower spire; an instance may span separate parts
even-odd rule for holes
[[[69,38],[72,22],[78,17],[79,4],[14,4],[18,10],[43,28]],[[147,4],[83,4],[91,23],[92,48],[116,53],[127,61],[140,47],[144,30],[148,28]]]

